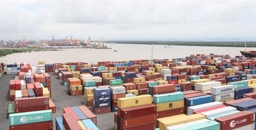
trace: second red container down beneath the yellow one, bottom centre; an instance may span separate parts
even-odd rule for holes
[[[157,121],[157,115],[141,116],[132,119],[120,118],[120,126],[122,128],[136,127],[144,124],[151,124]]]

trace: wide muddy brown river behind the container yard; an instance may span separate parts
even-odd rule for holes
[[[14,53],[0,57],[0,62],[14,64],[30,62],[37,66],[38,61],[46,64],[64,62],[95,62],[95,61],[129,61],[151,59],[151,45],[146,44],[106,44],[112,49],[73,48],[60,51],[43,51],[31,53]],[[166,47],[165,47],[166,46]],[[253,49],[253,48],[251,48]],[[117,50],[114,52],[113,50]],[[153,45],[153,59],[184,58],[191,54],[214,53],[217,55],[229,54],[231,57],[241,55],[243,47],[202,47],[202,46],[167,46]]]

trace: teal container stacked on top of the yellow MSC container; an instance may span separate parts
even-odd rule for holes
[[[184,93],[183,92],[175,92],[169,94],[158,94],[153,96],[154,103],[163,103],[163,102],[172,102],[184,100]]]

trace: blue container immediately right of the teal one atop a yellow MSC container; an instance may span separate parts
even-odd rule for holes
[[[192,98],[186,99],[186,105],[194,106],[194,105],[209,103],[212,101],[213,101],[212,95],[204,95],[204,96],[200,96],[200,97],[192,97]]]

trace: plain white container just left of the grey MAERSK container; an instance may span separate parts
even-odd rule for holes
[[[212,87],[221,86],[221,82],[218,81],[210,81],[204,83],[196,83],[195,90],[199,91],[208,91],[211,90]]]

